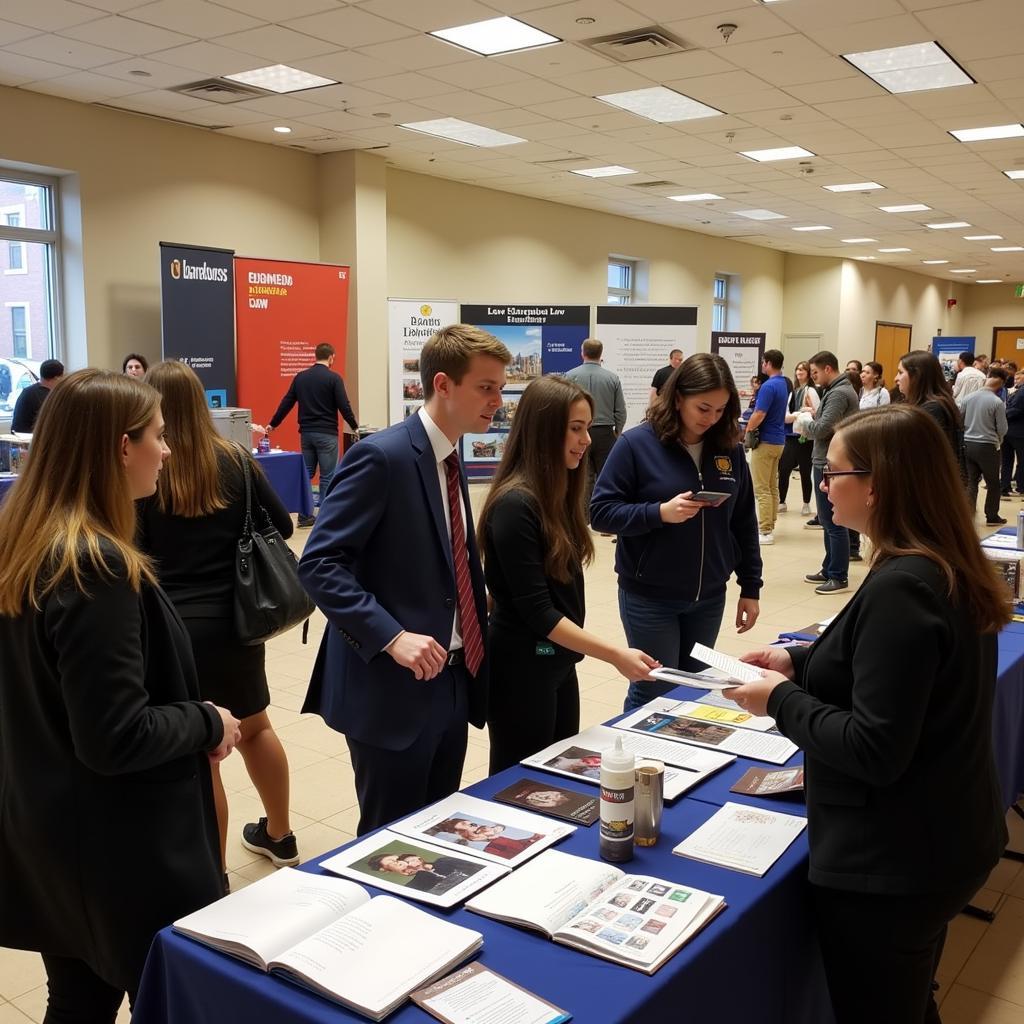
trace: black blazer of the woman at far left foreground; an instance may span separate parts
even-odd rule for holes
[[[0,945],[134,989],[154,934],[221,895],[223,730],[163,592],[86,583],[0,617]]]

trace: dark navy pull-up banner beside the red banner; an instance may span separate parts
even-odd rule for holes
[[[233,259],[230,249],[160,243],[163,355],[199,374],[214,409],[234,404]]]

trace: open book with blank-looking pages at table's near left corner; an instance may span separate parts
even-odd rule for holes
[[[390,896],[284,867],[174,923],[230,953],[379,1021],[483,944]]]

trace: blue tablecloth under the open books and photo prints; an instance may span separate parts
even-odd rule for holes
[[[679,696],[696,692],[680,689]],[[740,758],[725,769],[721,773],[725,790],[756,763]],[[792,763],[799,763],[799,755]],[[554,778],[512,768],[467,792],[487,799],[523,776]],[[561,777],[556,781],[596,792]],[[724,791],[718,790],[708,791],[706,798],[686,796],[667,807],[658,845],[637,849],[633,862],[624,865],[627,871],[719,893],[728,901],[727,908],[652,977],[465,909],[441,911],[418,905],[481,932],[481,963],[570,1011],[582,1024],[639,1020],[830,1024],[833,1016],[810,922],[806,836],[798,839],[763,879],[674,856],[672,847],[711,817],[725,799],[757,802],[736,794],[725,797]],[[799,802],[770,806],[803,813]],[[558,849],[596,857],[597,847],[595,825],[580,827]],[[317,863],[311,861],[303,869],[317,871]],[[135,1024],[222,1024],[224,1020],[329,1024],[361,1018],[164,929],[151,950],[132,1019]],[[407,1004],[389,1020],[412,1024],[433,1018]]]

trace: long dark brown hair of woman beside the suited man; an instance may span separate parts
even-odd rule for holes
[[[538,378],[523,391],[478,527],[480,548],[485,551],[490,512],[498,499],[510,490],[528,495],[541,517],[544,570],[561,583],[571,579],[574,565],[588,565],[594,558],[583,508],[586,460],[579,469],[565,465],[569,413],[581,400],[593,417],[594,399],[572,381],[553,375]]]

